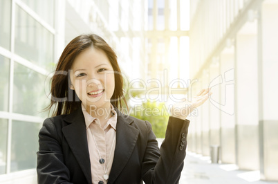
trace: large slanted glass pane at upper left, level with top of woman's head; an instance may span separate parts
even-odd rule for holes
[[[48,70],[53,68],[54,36],[16,6],[15,53]]]

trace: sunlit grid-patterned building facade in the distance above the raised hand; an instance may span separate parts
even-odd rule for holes
[[[147,79],[167,81],[163,88],[169,87],[174,80],[183,80],[171,87],[186,91],[185,82],[189,79],[189,0],[148,0],[147,16]]]

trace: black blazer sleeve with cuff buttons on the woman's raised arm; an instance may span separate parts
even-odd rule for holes
[[[169,117],[165,140],[160,147],[160,156],[151,124],[146,123],[148,143],[142,163],[143,181],[146,184],[178,183],[185,159],[189,120]]]

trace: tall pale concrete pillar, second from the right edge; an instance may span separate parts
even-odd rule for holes
[[[257,22],[247,22],[236,41],[237,165],[259,169]]]

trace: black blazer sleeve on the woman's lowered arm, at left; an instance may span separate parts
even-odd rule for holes
[[[39,151],[37,151],[38,184],[69,184],[70,172],[64,164],[59,134],[53,118],[47,118],[39,131]]]

